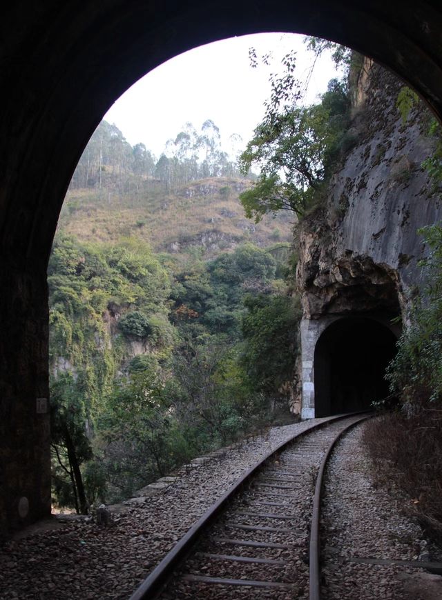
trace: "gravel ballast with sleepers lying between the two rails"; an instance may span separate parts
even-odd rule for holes
[[[315,430],[263,466],[250,485],[240,490],[213,526],[204,532],[194,552],[182,563],[161,598],[307,600],[314,474],[318,472],[329,443],[347,424],[348,419],[345,419]],[[263,503],[269,501],[278,506],[256,508],[257,504],[266,506]],[[236,543],[238,538],[244,544]],[[229,545],[229,541],[233,544]],[[248,547],[247,542],[274,546],[267,547],[263,557],[262,548]],[[229,557],[231,554],[252,561],[237,561]],[[253,562],[253,559],[263,558],[279,561],[279,564]],[[209,578],[204,586],[199,583],[201,577]],[[222,585],[214,583],[213,578],[223,582]],[[226,580],[236,583],[228,584]],[[244,580],[255,581],[256,585],[243,587],[244,584],[238,584]]]

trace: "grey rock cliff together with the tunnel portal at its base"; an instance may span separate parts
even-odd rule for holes
[[[419,261],[428,249],[418,230],[442,219],[441,190],[422,166],[435,143],[430,114],[418,106],[404,124],[401,85],[365,59],[346,134],[352,147],[298,227],[303,318],[291,409],[303,418],[386,397],[385,368],[401,332],[392,318],[406,322],[423,289]]]

